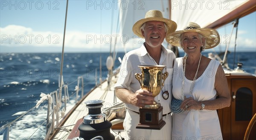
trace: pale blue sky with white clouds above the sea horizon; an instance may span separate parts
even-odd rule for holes
[[[69,0],[65,51],[108,51],[110,37],[117,34],[118,8],[116,1]],[[0,0],[0,52],[61,52],[65,10],[66,0]],[[218,29],[222,41],[231,28]],[[256,52],[256,13],[241,18],[238,29],[237,50]]]

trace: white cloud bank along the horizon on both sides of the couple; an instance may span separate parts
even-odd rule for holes
[[[12,49],[14,47],[33,47],[39,52],[49,48],[55,48],[60,50],[63,43],[63,33],[52,31],[34,31],[32,28],[27,28],[20,25],[8,25],[4,28],[0,28],[0,45],[5,46],[5,50]],[[249,39],[244,36],[246,31],[240,30],[237,38],[237,50],[256,50],[255,39]],[[225,46],[229,36],[221,36],[221,46]],[[235,34],[231,37],[229,49],[232,50],[234,44]],[[116,50],[133,50],[139,48],[144,39],[128,37],[126,35],[119,34],[98,34],[98,33],[86,33],[83,31],[66,31],[65,36],[65,50],[68,51],[109,51],[110,45],[113,46],[116,43]],[[48,48],[47,48],[48,47]],[[125,47],[125,48],[124,48]],[[2,47],[1,47],[2,48]],[[225,48],[223,48],[225,49]],[[49,49],[51,51],[52,49]],[[25,50],[26,51],[26,50]],[[29,51],[29,49],[28,49]]]

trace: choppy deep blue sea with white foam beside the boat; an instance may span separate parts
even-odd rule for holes
[[[206,52],[202,53],[207,56]],[[180,53],[183,56],[184,53]],[[99,65],[102,58],[102,79],[108,76],[106,59],[109,53],[65,53],[63,79],[64,84],[69,84],[70,104],[74,103],[75,87],[73,82],[78,76],[84,78],[84,93],[90,91],[99,84]],[[117,53],[117,58],[124,53]],[[230,68],[236,68],[236,63],[243,63],[243,69],[249,73],[255,73],[256,52],[228,54]],[[116,59],[115,66],[120,62]],[[234,67],[233,67],[233,64]],[[40,94],[49,94],[58,89],[58,77],[60,75],[61,53],[1,53],[0,54],[0,126],[15,120],[24,112],[32,109],[40,100]],[[96,70],[97,69],[97,70]],[[73,96],[72,96],[73,95]],[[32,109],[27,115],[14,123],[10,129],[12,138],[25,138],[29,140],[41,140],[45,135],[47,102],[37,109]],[[31,121],[41,121],[34,125]],[[38,129],[38,130],[37,130]],[[37,130],[35,134],[32,132]],[[15,131],[15,133],[14,133]],[[32,136],[32,137],[30,137]],[[30,138],[29,138],[30,137]]]

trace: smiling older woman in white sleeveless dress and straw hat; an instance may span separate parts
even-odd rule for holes
[[[227,78],[218,61],[201,55],[218,45],[218,32],[190,22],[166,40],[187,54],[176,59],[173,69],[172,139],[222,140],[216,109],[230,106]]]

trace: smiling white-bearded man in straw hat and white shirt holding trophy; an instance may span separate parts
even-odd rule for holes
[[[116,96],[126,103],[127,111],[123,123],[127,138],[133,140],[170,140],[172,130],[171,98],[172,98],[172,67],[175,54],[163,47],[162,43],[167,32],[174,32],[177,24],[163,18],[158,10],[150,10],[145,18],[137,21],[133,26],[133,32],[137,36],[145,38],[143,45],[126,53],[120,70],[120,76],[115,85]],[[162,92],[155,98],[152,92],[142,90],[135,73],[141,73],[138,65],[165,65],[169,73]],[[140,122],[139,107],[145,104],[153,104],[157,101],[163,106],[163,120],[166,125],[160,130],[136,129]]]

